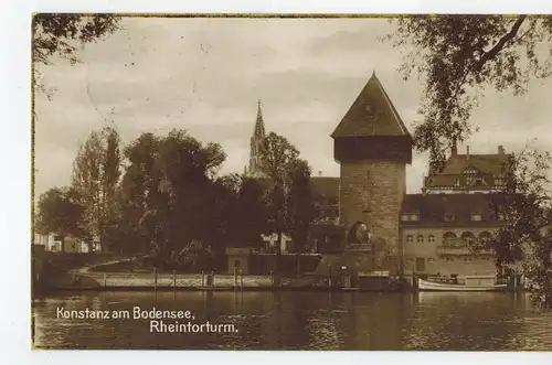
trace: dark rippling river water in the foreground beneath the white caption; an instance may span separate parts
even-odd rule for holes
[[[67,310],[190,310],[237,332],[151,333],[149,320],[56,318]],[[104,292],[33,302],[36,346],[54,348],[551,348],[552,313],[510,293]],[[170,321],[170,320],[169,320]]]

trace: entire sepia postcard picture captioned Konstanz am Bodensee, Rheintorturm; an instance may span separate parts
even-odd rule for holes
[[[552,17],[38,13],[34,350],[552,350]]]

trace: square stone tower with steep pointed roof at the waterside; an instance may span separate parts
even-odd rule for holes
[[[347,229],[346,251],[368,255],[364,261],[373,270],[399,270],[400,211],[412,138],[375,73],[331,137],[341,169],[339,218]]]

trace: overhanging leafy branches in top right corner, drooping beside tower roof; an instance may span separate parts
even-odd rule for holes
[[[474,131],[469,121],[485,87],[527,89],[531,77],[552,72],[552,17],[414,15],[391,20],[397,29],[383,40],[407,50],[404,78],[415,71],[424,78],[415,127],[417,149],[428,150],[433,171],[445,152]]]

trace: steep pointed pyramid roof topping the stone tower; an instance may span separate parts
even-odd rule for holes
[[[376,136],[410,133],[374,72],[331,137]]]

